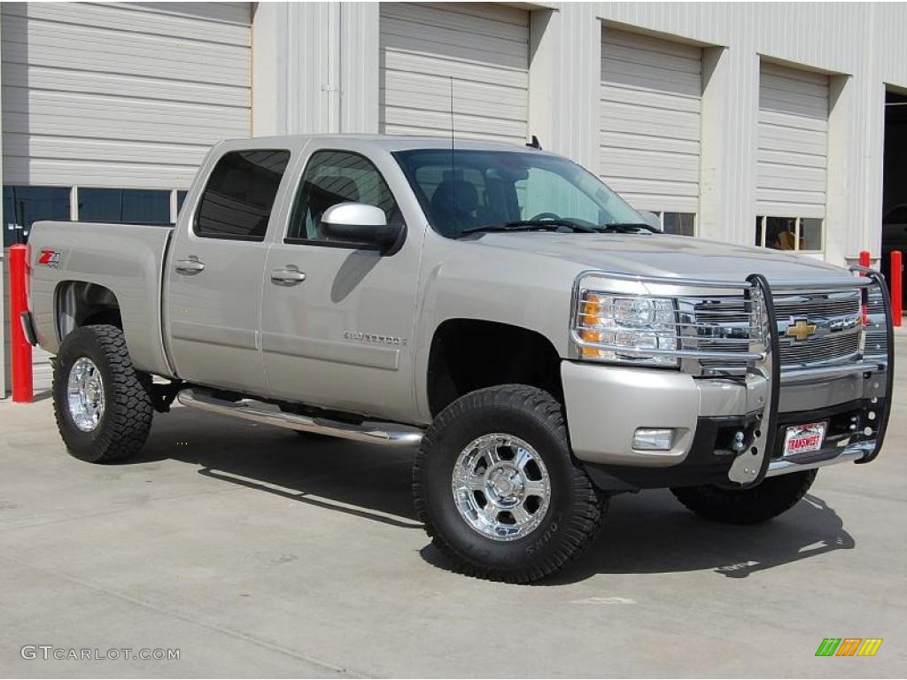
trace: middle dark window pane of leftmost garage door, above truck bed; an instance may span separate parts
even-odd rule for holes
[[[115,224],[169,224],[170,191],[80,187],[79,220]]]

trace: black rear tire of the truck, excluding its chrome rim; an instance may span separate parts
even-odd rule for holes
[[[97,366],[104,410],[97,426],[84,432],[73,421],[67,396],[70,371],[80,358]],[[54,414],[69,452],[81,461],[114,462],[139,452],[151,430],[154,407],[143,378],[132,367],[126,339],[114,325],[86,325],[63,339],[54,362]]]

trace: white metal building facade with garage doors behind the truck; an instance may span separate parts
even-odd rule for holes
[[[453,76],[457,134],[537,135],[697,237],[769,245],[793,220],[802,257],[844,264],[880,249],[885,92],[907,92],[900,4],[4,4],[0,22],[4,186],[168,190],[171,217],[221,137],[449,134]]]

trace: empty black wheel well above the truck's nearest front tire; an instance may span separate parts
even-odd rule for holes
[[[428,359],[432,417],[463,394],[496,384],[529,384],[563,401],[561,357],[544,335],[517,325],[450,319]]]

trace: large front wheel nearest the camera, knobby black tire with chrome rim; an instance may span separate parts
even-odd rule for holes
[[[571,456],[561,404],[526,385],[466,394],[425,433],[415,510],[456,570],[522,583],[575,559],[606,509]]]

